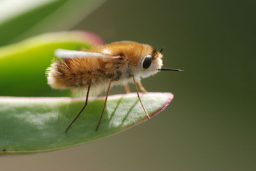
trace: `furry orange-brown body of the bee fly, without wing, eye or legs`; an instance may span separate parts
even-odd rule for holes
[[[71,89],[74,93],[86,91],[88,83],[92,82],[93,94],[108,87],[109,80],[115,80],[113,85],[125,85],[132,82],[132,75],[139,81],[157,73],[163,65],[161,53],[150,45],[134,41],[118,41],[103,46],[92,47],[86,52],[96,52],[108,57],[74,57],[63,60],[55,59],[47,69],[48,84],[56,89]],[[141,68],[143,58],[151,55],[152,66]]]

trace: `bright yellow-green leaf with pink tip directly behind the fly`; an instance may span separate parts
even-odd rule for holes
[[[56,91],[47,85],[45,70],[54,58],[54,50],[102,43],[93,33],[63,31],[0,48],[0,96],[67,96],[68,91]]]

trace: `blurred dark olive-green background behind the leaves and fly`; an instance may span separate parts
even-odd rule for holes
[[[172,92],[174,99],[154,119],[108,138],[61,151],[0,156],[1,169],[256,170],[255,5],[109,0],[90,14],[84,10],[86,16],[73,15],[79,20],[65,29],[92,31],[106,43],[164,47],[164,67],[185,71],[162,71],[142,83],[151,92]],[[116,93],[124,93],[123,87],[111,90]]]

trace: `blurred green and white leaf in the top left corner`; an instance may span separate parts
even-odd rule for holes
[[[106,0],[0,2],[0,46],[48,31],[72,29]]]

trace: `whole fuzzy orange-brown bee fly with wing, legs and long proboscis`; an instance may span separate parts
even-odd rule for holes
[[[111,85],[124,85],[126,93],[130,93],[128,83],[135,86],[138,99],[138,83],[140,90],[147,93],[140,82],[141,78],[154,75],[158,71],[182,71],[172,68],[162,68],[163,48],[157,51],[156,48],[147,44],[135,41],[116,41],[107,45],[94,46],[90,50],[65,50],[57,49],[55,55],[61,59],[54,59],[51,66],[47,68],[47,81],[55,89],[71,89],[72,92],[86,92],[86,99],[83,108],[68,125],[76,121],[87,105],[89,92],[99,93],[99,90],[106,90],[104,107],[100,115],[96,131],[100,126],[104,109],[108,100]],[[147,111],[143,108],[148,119]]]

